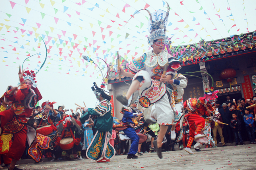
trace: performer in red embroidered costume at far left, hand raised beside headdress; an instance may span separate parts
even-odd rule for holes
[[[36,88],[34,71],[19,72],[20,89],[9,86],[5,92],[5,101],[11,103],[11,108],[0,112],[1,120],[1,141],[0,153],[12,158],[9,169],[14,168],[15,163],[19,160],[26,148],[26,139],[29,145],[34,141],[44,141],[49,145],[49,138],[42,135],[36,135],[36,131],[26,126],[33,108],[38,100],[42,99],[39,90]],[[29,135],[27,135],[27,132]],[[8,144],[8,145],[6,145]],[[43,146],[41,148],[44,148]],[[46,146],[47,148],[47,146]],[[39,161],[39,160],[38,160]]]

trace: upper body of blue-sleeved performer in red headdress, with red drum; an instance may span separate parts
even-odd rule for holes
[[[57,128],[54,126],[54,120],[57,113],[53,112],[52,115],[49,115],[49,111],[53,108],[54,103],[55,102],[51,103],[49,101],[42,103],[43,112],[34,117],[34,119],[36,119],[34,128],[37,128],[37,133],[47,136],[57,130]]]

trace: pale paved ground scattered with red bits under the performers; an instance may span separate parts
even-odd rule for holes
[[[128,160],[127,155],[115,156],[110,163],[81,161],[40,162],[20,165],[27,170],[67,170],[67,169],[256,169],[256,144],[204,148],[190,155],[184,150],[163,152],[163,159],[156,153],[147,153],[138,159]]]

